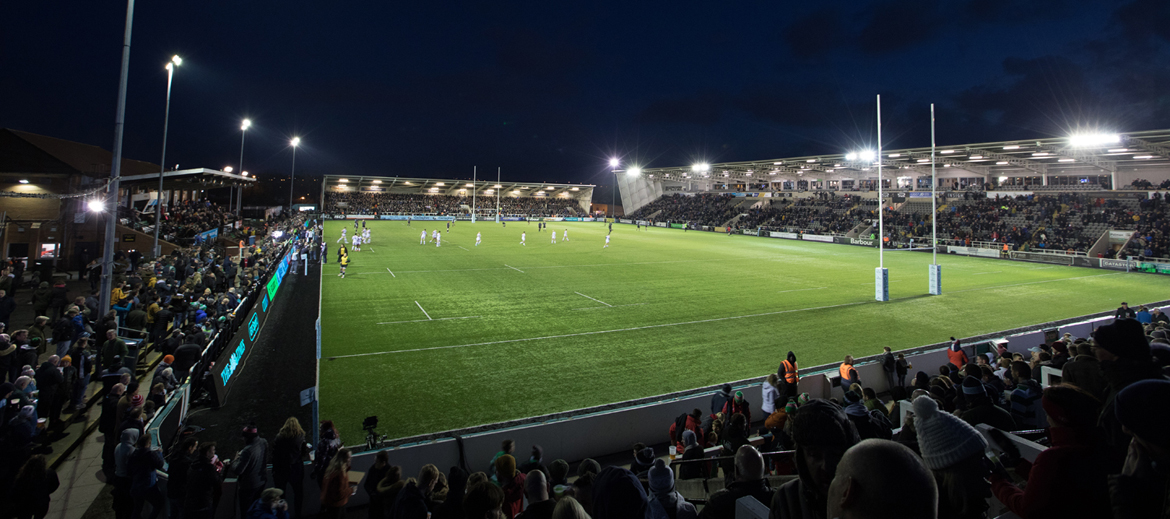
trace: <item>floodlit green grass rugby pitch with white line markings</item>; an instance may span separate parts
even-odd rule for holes
[[[874,302],[878,250],[601,223],[367,222],[373,243],[337,277],[326,222],[321,416],[347,443],[362,420],[391,438],[762,376],[1166,298],[1170,278],[887,252],[890,302]],[[429,224],[429,226],[428,226]],[[475,234],[483,243],[475,247]],[[521,231],[528,244],[519,245]],[[429,234],[429,233],[428,233]],[[759,396],[749,394],[753,406]]]

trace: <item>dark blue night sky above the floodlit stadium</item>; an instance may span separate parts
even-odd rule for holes
[[[358,5],[360,4],[360,5]],[[0,7],[0,126],[111,148],[125,2]],[[124,153],[608,184],[644,167],[1170,126],[1170,2],[139,1]]]

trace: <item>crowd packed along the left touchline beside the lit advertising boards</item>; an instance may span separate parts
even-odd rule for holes
[[[94,404],[101,409],[98,430],[108,438],[102,452],[106,480],[115,483],[117,498],[129,498],[129,479],[124,486],[118,479],[126,473],[126,459],[115,438],[128,449],[149,440],[145,427],[171,393],[188,378],[206,376],[195,369],[205,348],[280,260],[283,248],[271,231],[301,229],[303,221],[297,215],[264,223],[239,264],[219,243],[177,249],[157,261],[118,252],[106,311],[99,309],[96,289],[69,293],[56,281],[30,291],[32,323],[11,332],[18,326],[0,323],[0,491],[34,485],[29,477],[48,477],[44,455],[69,423],[85,422],[92,399],[99,402]],[[91,283],[96,286],[96,277]],[[157,366],[145,362],[149,351],[158,352]],[[204,379],[199,382],[197,387],[206,387]],[[27,504],[2,494],[0,503]],[[0,512],[9,510],[0,506]]]

